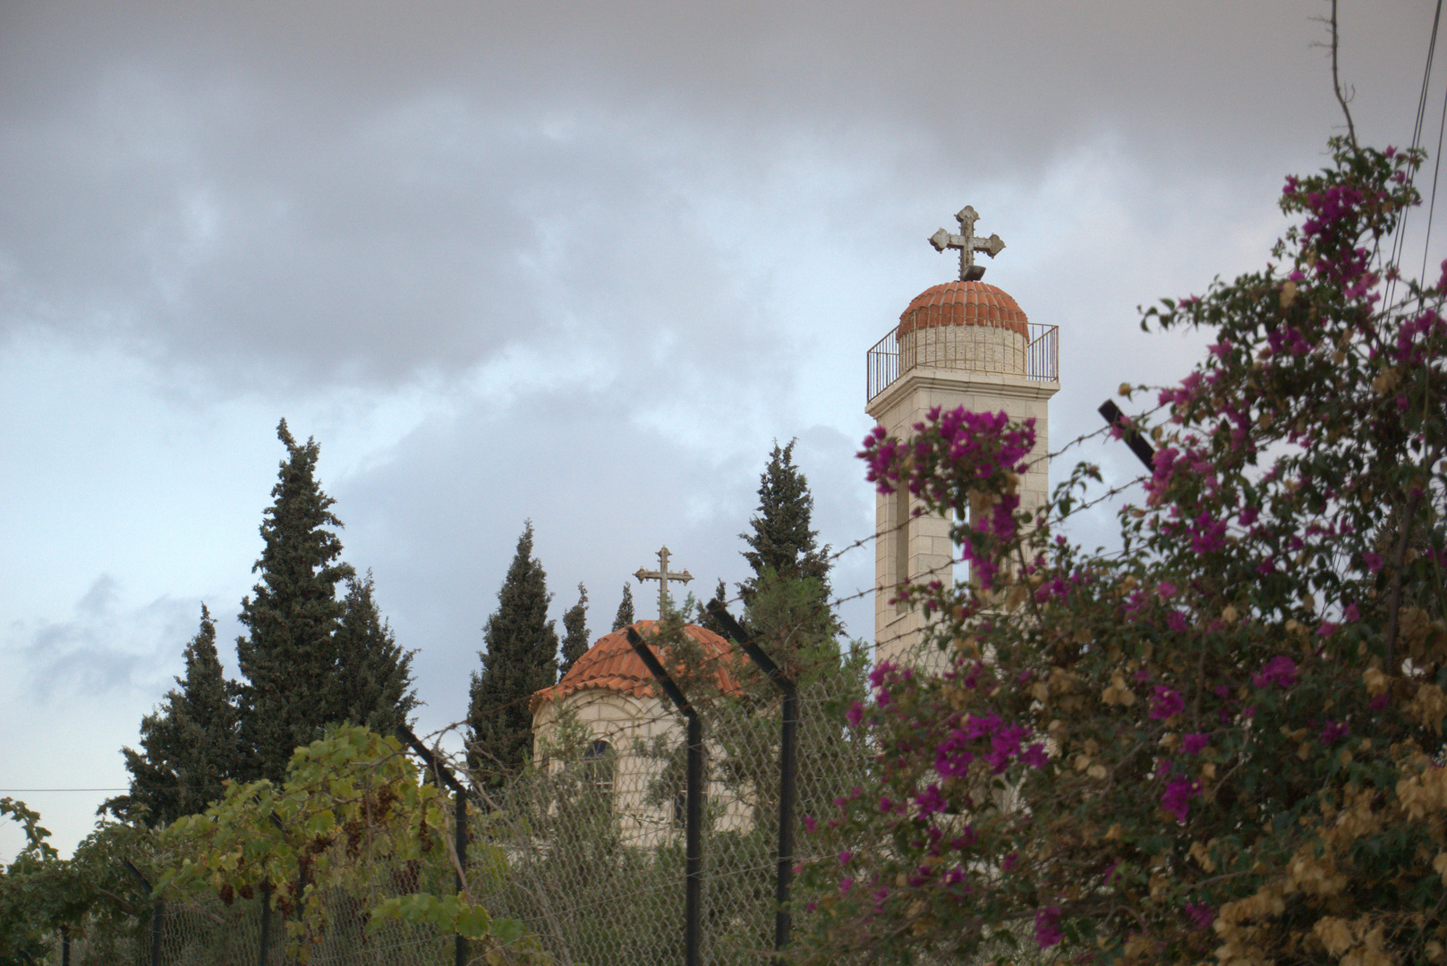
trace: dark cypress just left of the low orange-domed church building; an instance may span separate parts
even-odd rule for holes
[[[532,743],[528,698],[557,683],[557,631],[547,619],[551,599],[527,521],[498,590],[498,610],[482,632],[482,674],[472,675],[467,707],[467,764],[493,781],[522,766]]]

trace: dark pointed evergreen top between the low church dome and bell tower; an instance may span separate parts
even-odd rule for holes
[[[809,492],[809,479],[794,466],[796,443],[790,440],[789,445],[780,447],[776,441],[768,466],[758,477],[758,513],[750,521],[752,532],[739,534],[750,547],[742,552],[754,576],[738,589],[747,603],[768,580],[767,574],[810,580],[822,619],[832,620],[828,616],[829,547],[816,547],[819,531],[809,528],[813,493]]]

